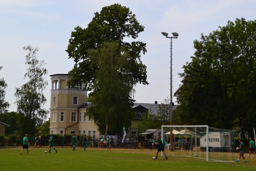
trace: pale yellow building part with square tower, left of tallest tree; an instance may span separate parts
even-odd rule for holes
[[[99,131],[94,122],[85,116],[89,104],[84,83],[69,87],[70,75],[53,74],[50,77],[50,134],[87,134],[98,138]]]

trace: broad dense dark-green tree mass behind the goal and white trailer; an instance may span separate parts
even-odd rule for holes
[[[194,41],[195,56],[180,73],[175,92],[183,124],[241,129],[255,124],[256,20],[228,21]],[[246,129],[245,129],[246,128]]]

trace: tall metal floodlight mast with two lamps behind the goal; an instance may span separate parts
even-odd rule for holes
[[[176,32],[173,32],[172,35],[173,37],[168,37],[168,33],[166,32],[161,32],[166,38],[171,39],[171,61],[170,61],[170,125],[172,125],[172,39],[177,39],[179,34],[177,34]],[[172,130],[170,131],[170,151],[173,151],[173,135],[172,135]]]

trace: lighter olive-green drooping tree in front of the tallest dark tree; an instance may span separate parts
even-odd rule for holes
[[[130,51],[119,48],[118,41],[105,43],[101,48],[89,51],[93,65],[99,66],[93,81],[93,93],[88,109],[100,131],[120,134],[123,123],[130,126],[134,117],[130,92],[134,86],[132,77],[127,77],[127,68],[133,60]],[[105,126],[107,126],[105,128]]]

